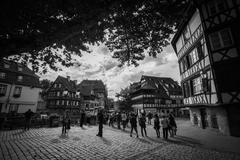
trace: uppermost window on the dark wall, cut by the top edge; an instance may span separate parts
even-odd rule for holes
[[[215,15],[221,11],[224,11],[226,9],[226,4],[224,3],[224,0],[213,0],[209,2],[208,9],[210,15]]]

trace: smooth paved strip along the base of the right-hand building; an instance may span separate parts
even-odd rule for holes
[[[224,136],[221,133],[193,126],[189,120],[177,120],[178,139],[199,143],[204,148],[240,154],[240,137]]]

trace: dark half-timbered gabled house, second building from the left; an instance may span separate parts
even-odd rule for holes
[[[77,89],[77,81],[58,76],[47,91],[47,109],[49,112],[63,114],[79,113],[81,109],[82,96]]]

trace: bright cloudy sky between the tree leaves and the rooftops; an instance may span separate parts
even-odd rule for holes
[[[111,57],[111,53],[104,45],[90,48],[92,53],[83,53],[82,57],[77,57],[80,66],[62,68],[63,71],[60,72],[49,71],[42,75],[41,79],[54,81],[58,75],[64,77],[68,75],[72,80],[78,80],[78,83],[83,79],[102,80],[107,86],[109,97],[114,99],[121,88],[139,81],[142,75],[171,77],[180,81],[177,57],[170,45],[157,58],[146,56],[138,67],[121,68],[117,66],[118,61]]]

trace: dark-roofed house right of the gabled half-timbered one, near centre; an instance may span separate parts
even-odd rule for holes
[[[83,107],[86,110],[106,107],[107,89],[101,80],[83,80],[78,89],[83,95]]]

